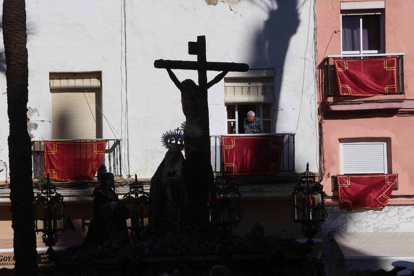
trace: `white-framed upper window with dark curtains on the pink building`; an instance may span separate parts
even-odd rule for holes
[[[384,53],[384,10],[342,11],[341,29],[342,54]]]

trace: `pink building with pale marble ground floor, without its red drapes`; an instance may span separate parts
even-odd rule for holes
[[[397,259],[414,259],[412,251],[404,251],[414,237],[414,3],[321,0],[316,5],[320,167],[331,197],[322,226],[325,271],[389,271]],[[394,56],[396,93],[339,95],[333,58]],[[340,209],[335,176],[372,173],[398,174],[387,206]]]

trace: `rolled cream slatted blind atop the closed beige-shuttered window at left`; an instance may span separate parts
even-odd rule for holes
[[[88,74],[51,74],[50,88],[100,88],[99,73]]]

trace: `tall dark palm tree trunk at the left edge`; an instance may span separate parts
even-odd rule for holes
[[[28,65],[24,0],[3,1],[9,115],[10,201],[16,275],[36,275],[31,142],[27,133]]]

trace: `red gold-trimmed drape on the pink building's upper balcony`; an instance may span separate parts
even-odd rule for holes
[[[341,96],[397,93],[397,57],[334,58]]]

